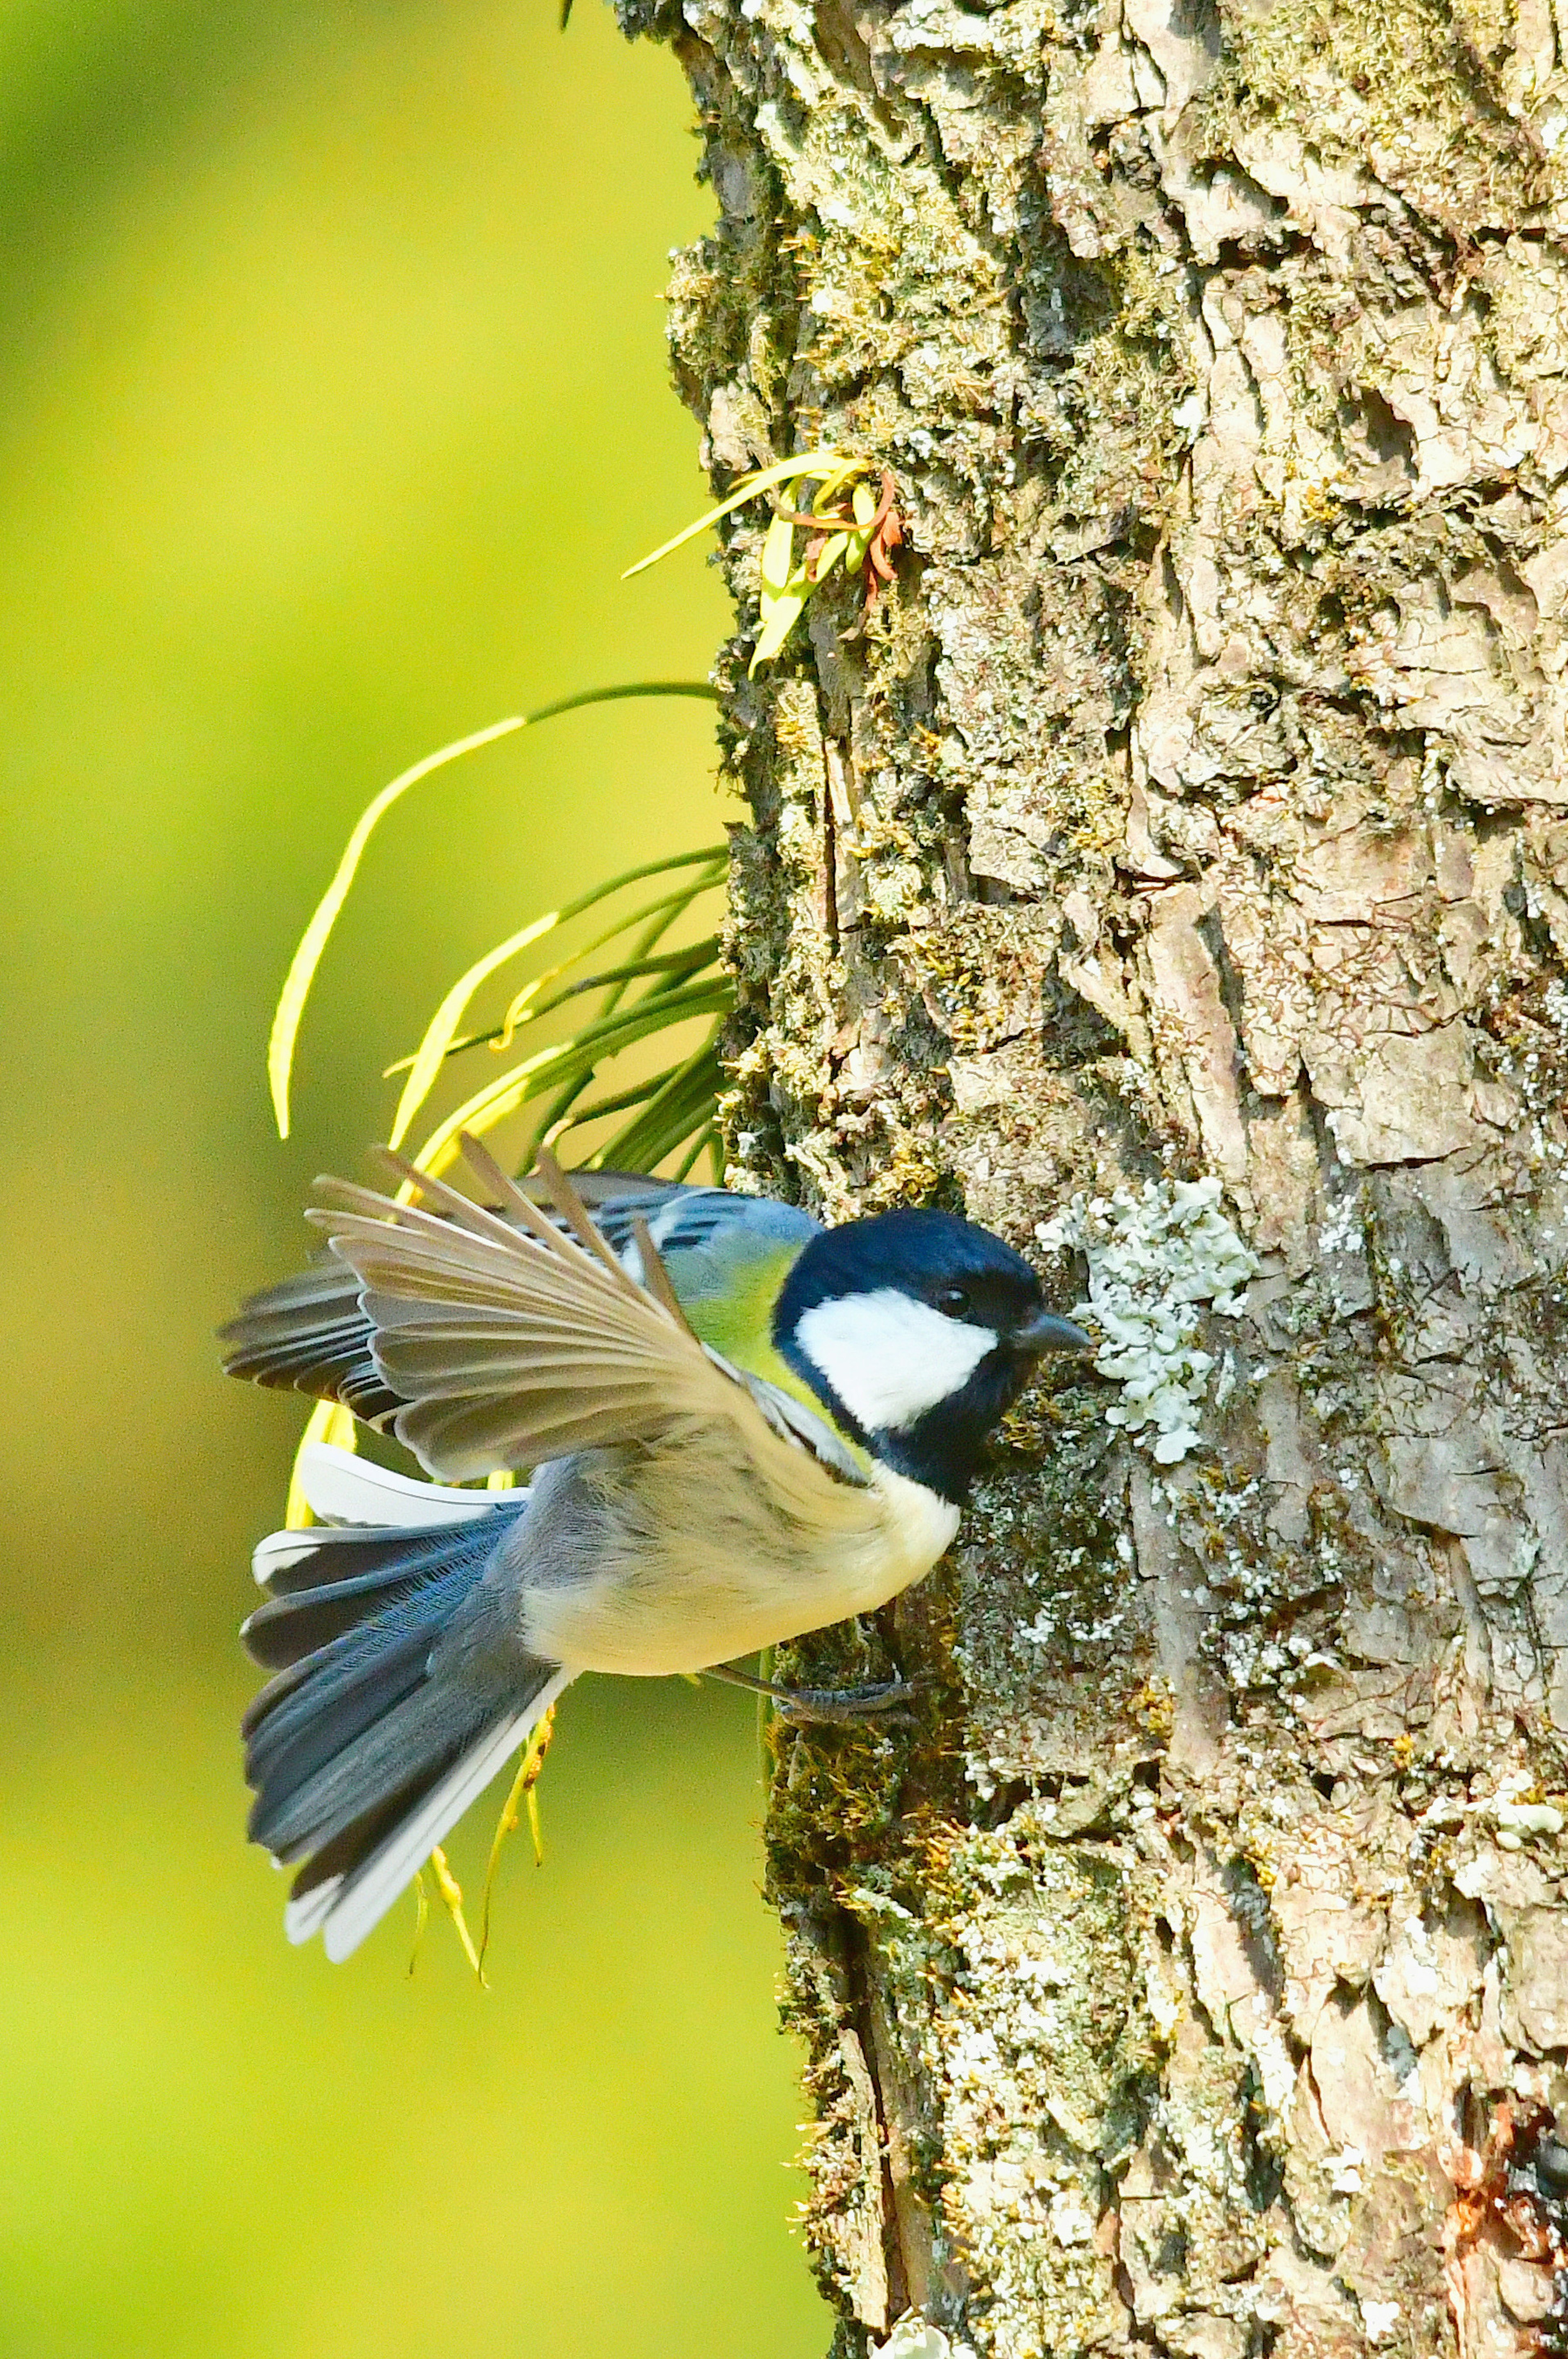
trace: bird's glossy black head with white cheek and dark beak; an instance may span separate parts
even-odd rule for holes
[[[813,1236],[773,1345],[872,1458],[962,1500],[1042,1352],[1089,1338],[1045,1307],[1021,1253],[953,1213],[879,1213]]]

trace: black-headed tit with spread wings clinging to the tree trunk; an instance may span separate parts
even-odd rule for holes
[[[955,1213],[823,1227],[462,1151],[486,1203],[389,1151],[398,1196],[316,1182],[325,1253],[219,1330],[229,1373],[337,1401],[422,1470],[307,1444],[316,1522],[255,1550],[250,1838],[297,1866],[288,1937],[332,1960],[582,1673],[733,1677],[828,1720],[905,1696],[733,1658],[920,1581],[1042,1354],[1092,1347]],[[465,1489],[500,1472],[531,1479]]]

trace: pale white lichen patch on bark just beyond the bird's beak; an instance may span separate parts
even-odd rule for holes
[[[1122,1387],[1106,1425],[1134,1434],[1155,1465],[1177,1465],[1198,1446],[1214,1366],[1198,1347],[1203,1312],[1236,1319],[1240,1288],[1259,1269],[1219,1210],[1219,1180],[1075,1196],[1035,1236],[1049,1253],[1075,1246],[1089,1262],[1089,1300],[1075,1316],[1094,1321],[1103,1338],[1094,1366]]]

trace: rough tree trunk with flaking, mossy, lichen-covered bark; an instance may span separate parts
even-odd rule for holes
[[[908,519],[752,684],[729,540],[738,1184],[1108,1338],[792,1665],[931,1682],[778,1736],[842,2347],[1568,2352],[1568,21],[622,14],[714,479]]]

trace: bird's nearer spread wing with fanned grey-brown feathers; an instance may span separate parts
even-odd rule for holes
[[[846,1507],[870,1505],[842,1479],[854,1470],[825,1427],[818,1458],[816,1420],[729,1368],[674,1307],[627,1276],[554,1168],[547,1180],[564,1227],[483,1149],[465,1149],[502,1194],[505,1217],[396,1158],[434,1210],[325,1180],[330,1203],[309,1215],[358,1279],[377,1375],[406,1404],[391,1430],[429,1474],[472,1481],[493,1467],[658,1444],[719,1422],[806,1522],[842,1526]],[[641,1246],[653,1253],[646,1227]]]

